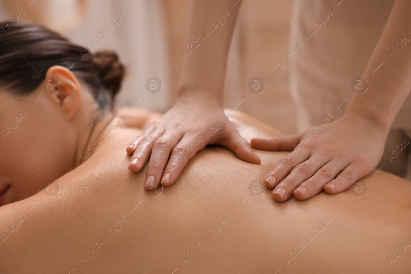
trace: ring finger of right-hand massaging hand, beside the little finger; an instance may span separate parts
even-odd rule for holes
[[[308,180],[300,184],[300,186],[293,191],[294,197],[298,200],[305,200],[315,196],[324,189],[324,186],[335,177],[349,164],[346,159],[333,159],[326,165],[312,175]]]

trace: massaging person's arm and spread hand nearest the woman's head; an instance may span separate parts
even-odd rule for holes
[[[178,99],[127,147],[127,152],[133,154],[131,171],[141,170],[150,158],[146,189],[155,189],[160,182],[164,186],[175,182],[188,161],[207,144],[223,145],[244,161],[260,163],[223,113],[226,54],[241,4],[236,2],[191,2],[186,41],[190,51],[182,49],[185,54]]]

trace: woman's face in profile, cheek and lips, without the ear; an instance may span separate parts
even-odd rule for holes
[[[41,87],[23,96],[0,87],[0,206],[32,196],[74,166],[78,132],[56,98]]]

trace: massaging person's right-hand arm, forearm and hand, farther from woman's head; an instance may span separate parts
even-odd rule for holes
[[[409,0],[395,2],[363,73],[368,90],[354,94],[341,119],[324,124],[323,129],[317,127],[318,133],[314,131],[312,138],[308,135],[311,129],[302,134],[251,141],[252,147],[261,150],[293,150],[265,177],[266,186],[275,188],[275,200],[284,201],[293,195],[304,200],[323,189],[338,193],[376,167],[393,117],[411,90],[410,11]],[[390,56],[388,51],[395,53],[392,47],[397,42],[402,43],[402,48]]]

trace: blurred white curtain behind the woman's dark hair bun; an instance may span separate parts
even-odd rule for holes
[[[169,37],[166,31],[166,13],[162,0],[89,0],[85,12],[81,12],[79,0],[39,0],[33,5],[44,6],[44,16],[55,22],[62,35],[75,44],[87,46],[100,37],[102,40],[91,50],[111,49],[118,53],[127,67],[122,89],[118,94],[117,106],[143,107],[153,111],[166,111],[171,103],[169,74]],[[32,7],[22,7],[30,13]],[[47,12],[46,12],[47,11]],[[121,14],[127,15],[103,37],[100,33]],[[0,1],[0,20],[14,16]],[[69,18],[72,18],[71,23]],[[83,19],[79,23],[79,18]],[[23,17],[24,19],[24,17]],[[64,22],[64,27],[62,26]],[[118,23],[117,23],[118,24]],[[69,30],[69,31],[67,31]],[[151,94],[145,89],[145,82],[157,77],[163,83],[162,91]]]

